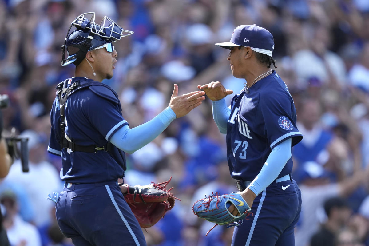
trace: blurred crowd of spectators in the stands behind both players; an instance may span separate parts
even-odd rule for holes
[[[114,77],[103,81],[120,96],[131,128],[169,104],[173,83],[180,94],[211,81],[239,93],[245,81],[231,75],[228,51],[214,43],[229,41],[238,25],[268,29],[304,136],[292,149],[303,199],[296,246],[369,246],[368,0],[0,0],[0,94],[10,97],[3,135],[14,127],[30,139],[30,171],[16,160],[0,180],[11,245],[71,245],[46,200],[63,187],[60,157],[46,149],[55,86],[74,73],[61,66],[61,46],[86,12],[135,32],[114,44]],[[148,245],[230,245],[232,228],[217,226],[205,237],[213,225],[192,213],[205,194],[236,191],[225,147],[206,99],[127,155],[125,183],[173,176],[169,186],[182,200],[144,232]]]

